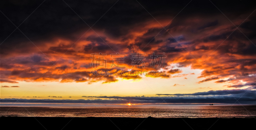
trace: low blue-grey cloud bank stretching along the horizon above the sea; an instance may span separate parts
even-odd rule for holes
[[[255,104],[256,90],[234,89],[190,94],[156,94],[157,97],[82,96],[94,99],[0,99],[1,103],[62,103],[62,104],[157,104],[157,103],[222,103]],[[159,96],[161,95],[161,96]],[[162,96],[165,95],[165,96]],[[168,95],[168,96],[167,96]],[[238,101],[237,101],[238,100]]]

